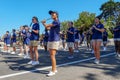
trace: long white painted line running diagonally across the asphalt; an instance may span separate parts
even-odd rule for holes
[[[110,53],[110,54],[102,55],[101,57],[107,57],[107,56],[111,56],[111,55],[114,55],[114,54],[115,53]],[[68,63],[64,63],[64,64],[60,64],[60,65],[57,65],[57,67],[62,67],[62,66],[66,66],[66,65],[76,64],[76,63],[85,62],[85,61],[89,61],[89,60],[93,60],[93,59],[95,59],[95,57],[88,58],[88,59],[83,59],[83,60],[78,60],[78,61],[73,61],[73,62],[68,62]],[[3,76],[0,76],[0,79],[4,79],[4,78],[8,78],[8,77],[14,77],[14,76],[18,76],[18,75],[23,75],[23,74],[27,74],[27,73],[31,73],[31,72],[40,71],[40,70],[47,70],[47,69],[51,69],[51,66],[44,67],[44,68],[38,68],[38,69],[35,69],[35,70],[30,70],[30,71],[24,71],[24,72],[19,72],[19,73],[3,75]]]

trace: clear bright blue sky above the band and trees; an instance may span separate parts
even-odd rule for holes
[[[75,20],[82,11],[100,14],[100,6],[108,0],[0,0],[0,35],[29,25],[31,18],[49,18],[48,11],[59,12],[60,21]],[[115,0],[119,1],[119,0]],[[41,25],[41,32],[44,30]]]

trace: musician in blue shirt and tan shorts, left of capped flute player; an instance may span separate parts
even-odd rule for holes
[[[28,62],[28,64],[31,65],[38,65],[39,64],[39,54],[38,54],[38,43],[39,43],[39,30],[40,25],[37,17],[32,18],[32,29],[31,29],[31,35],[30,35],[30,56],[31,61]]]

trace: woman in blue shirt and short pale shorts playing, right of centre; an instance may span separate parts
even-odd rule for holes
[[[92,45],[95,54],[94,63],[100,63],[100,46],[102,42],[102,33],[104,32],[104,25],[100,22],[99,18],[95,18],[95,24],[92,27]]]

